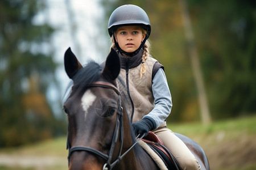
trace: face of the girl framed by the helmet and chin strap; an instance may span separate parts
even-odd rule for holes
[[[146,33],[143,33],[139,26],[123,26],[117,28],[115,37],[122,50],[132,53],[139,48],[146,37]]]

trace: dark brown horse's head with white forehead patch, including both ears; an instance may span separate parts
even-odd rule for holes
[[[113,150],[121,150],[122,142],[117,141],[121,131],[121,95],[115,82],[120,71],[119,58],[112,50],[104,69],[94,62],[82,67],[69,48],[64,65],[73,80],[71,94],[64,103],[68,115],[69,168],[102,169],[118,156]]]

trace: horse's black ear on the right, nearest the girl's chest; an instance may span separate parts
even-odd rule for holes
[[[109,56],[106,58],[105,67],[103,70],[104,76],[108,76],[111,80],[117,78],[120,73],[120,61],[117,52],[111,49]]]

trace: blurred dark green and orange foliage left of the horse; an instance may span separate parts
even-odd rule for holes
[[[35,24],[43,1],[0,2],[0,146],[17,146],[56,134],[46,100],[56,63],[53,28]]]

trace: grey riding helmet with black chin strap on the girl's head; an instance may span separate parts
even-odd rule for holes
[[[115,46],[119,50],[119,52],[124,53],[128,56],[134,56],[141,50],[141,48],[144,46],[146,40],[150,36],[151,32],[151,25],[150,25],[150,20],[148,19],[148,16],[146,12],[141,8],[136,5],[123,5],[118,8],[116,8],[112,14],[110,15],[109,18],[109,25],[108,25],[108,31],[110,37],[114,36],[114,31],[118,27],[126,26],[126,25],[138,25],[145,29],[147,31],[147,35],[143,42],[141,43],[141,46],[135,52],[133,53],[127,53],[123,51],[118,43],[115,41],[114,37],[114,42]]]

